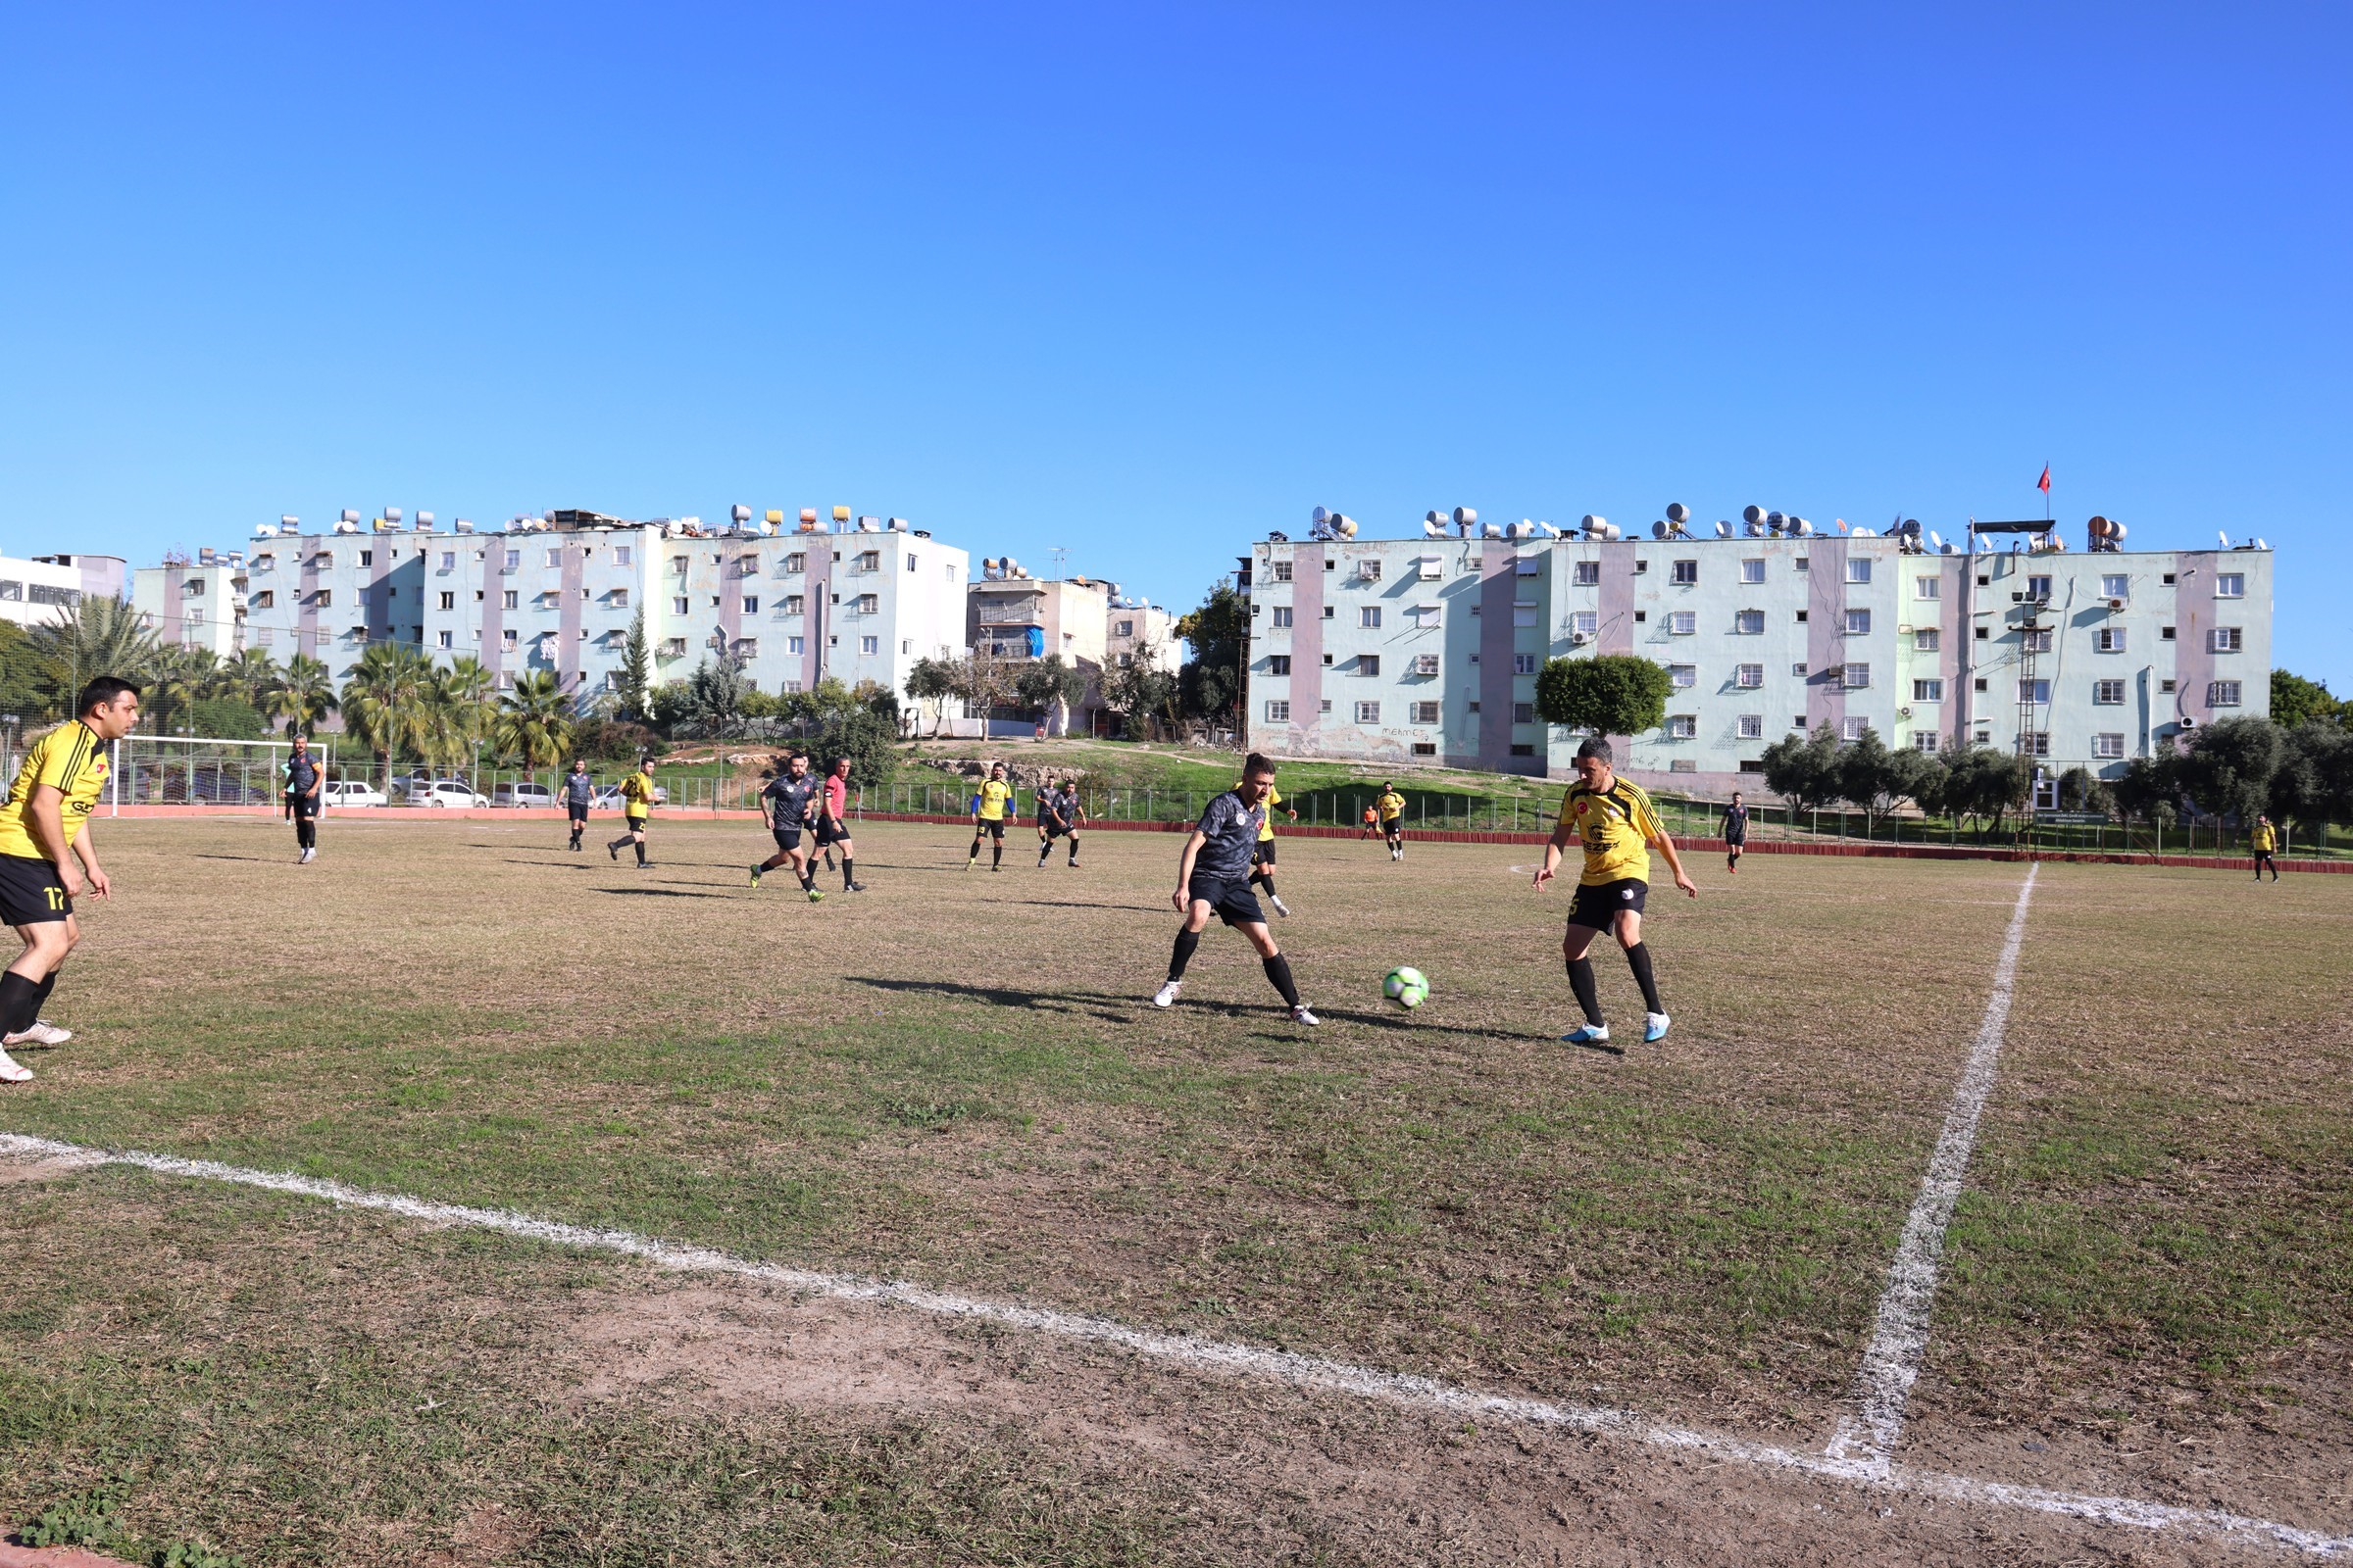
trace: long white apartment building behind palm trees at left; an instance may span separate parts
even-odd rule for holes
[[[369,644],[402,642],[480,658],[501,689],[529,670],[567,691],[616,689],[640,614],[654,684],[727,651],[765,691],[826,677],[904,689],[918,658],[962,649],[965,550],[875,517],[774,527],[558,510],[442,531],[431,515],[365,529],[346,515],[327,534],[259,529],[247,550],[141,567],[132,604],[167,644],[299,651],[336,682]]]

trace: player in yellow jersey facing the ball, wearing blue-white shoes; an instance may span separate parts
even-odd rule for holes
[[[1602,1023],[1600,990],[1593,985],[1593,964],[1586,950],[1605,929],[1614,931],[1635,985],[1642,987],[1642,1006],[1649,1018],[1642,1023],[1642,1039],[1666,1034],[1666,1009],[1659,1004],[1659,980],[1649,971],[1649,947],[1642,945],[1642,898],[1649,893],[1649,851],[1666,858],[1666,870],[1675,872],[1675,886],[1699,898],[1699,884],[1682,870],[1675,856],[1675,839],[1666,835],[1649,795],[1640,785],[1619,778],[1609,769],[1609,743],[1600,736],[1577,748],[1577,783],[1560,797],[1560,823],[1544,846],[1544,865],[1537,867],[1537,886],[1553,879],[1560,867],[1560,851],[1572,842],[1586,851],[1586,870],[1577,879],[1577,903],[1569,905],[1569,931],[1560,938],[1560,957],[1569,961],[1569,990],[1586,1023],[1560,1039],[1572,1046],[1600,1046],[1609,1041],[1609,1025]]]

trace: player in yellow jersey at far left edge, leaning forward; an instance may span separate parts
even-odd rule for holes
[[[0,919],[24,952],[0,973],[0,1084],[24,1084],[7,1046],[61,1046],[73,1039],[40,1020],[56,971],[82,940],[73,896],[108,898],[113,882],[89,842],[89,813],[106,790],[106,748],[139,722],[139,686],[113,675],[82,686],[78,717],[33,743],[0,804]]]

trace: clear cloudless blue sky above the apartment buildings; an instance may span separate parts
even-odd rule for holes
[[[2344,7],[33,7],[0,548],[1315,503],[2280,548],[2353,691]]]

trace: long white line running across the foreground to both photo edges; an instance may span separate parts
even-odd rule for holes
[[[1111,1319],[1080,1316],[1075,1312],[1054,1312],[1052,1307],[1021,1307],[1012,1302],[991,1302],[991,1300],[974,1300],[967,1295],[948,1295],[944,1291],[927,1291],[922,1286],[913,1286],[896,1279],[859,1279],[854,1274],[819,1274],[814,1269],[791,1269],[774,1262],[753,1262],[748,1258],[734,1258],[729,1253],[720,1253],[704,1246],[675,1246],[671,1241],[656,1241],[652,1237],[640,1237],[626,1229],[593,1229],[586,1225],[536,1220],[532,1215],[513,1213],[506,1208],[466,1208],[461,1204],[428,1204],[424,1199],[402,1197],[398,1192],[367,1192],[362,1187],[346,1187],[344,1182],[318,1180],[311,1175],[289,1175],[280,1171],[247,1171],[242,1166],[224,1166],[209,1159],[181,1159],[176,1154],[144,1154],[136,1150],[87,1150],[73,1143],[56,1143],[49,1138],[26,1138],[19,1133],[0,1133],[0,1154],[33,1154],[52,1159],[66,1157],[66,1159],[85,1159],[89,1164],[125,1164],[125,1166],[139,1166],[141,1171],[153,1171],[158,1175],[184,1175],[207,1182],[231,1182],[235,1187],[261,1187],[264,1192],[292,1192],[299,1197],[313,1197],[327,1204],[339,1204],[346,1208],[374,1208],[379,1213],[398,1213],[402,1218],[426,1220],[431,1225],[464,1225],[473,1229],[494,1229],[511,1237],[527,1237],[532,1241],[553,1241],[555,1246],[581,1246],[602,1253],[645,1258],[656,1267],[678,1269],[687,1274],[732,1274],[739,1279],[758,1279],[762,1284],[779,1284],[793,1291],[807,1291],[809,1295],[828,1295],[835,1300],[889,1302],[896,1307],[913,1307],[915,1312],[929,1312],[948,1319],[1005,1324],[1007,1328],[1028,1328],[1033,1333],[1059,1335],[1066,1340],[1092,1340],[1096,1345],[1115,1345],[1139,1356],[1176,1361],[1181,1366],[1191,1366],[1202,1373],[1217,1373],[1228,1378],[1273,1378],[1280,1382],[1289,1382],[1294,1387],[1355,1394],[1360,1399],[1379,1399],[1381,1403],[1402,1406],[1412,1410],[1489,1415],[1497,1420],[1522,1422],[1529,1427],[1565,1427],[1572,1432],[1591,1432],[1598,1436],[1612,1436],[1631,1443],[1649,1443],[1654,1448],[1704,1450],[1722,1460],[1737,1460],[1741,1465],[1762,1465],[1767,1469],[1786,1469],[1821,1481],[1838,1481],[1882,1493],[1911,1493],[1918,1497],[1946,1500],[1946,1502],[1979,1502],[1993,1507],[2028,1509],[2035,1514],[2064,1514],[2068,1519],[2087,1519],[2094,1523],[2122,1523],[2144,1530],[2165,1530],[2165,1528],[2214,1530],[2219,1535],[2231,1535],[2238,1540],[2259,1540],[2278,1547],[2289,1547],[2294,1552],[2311,1552],[2315,1556],[2353,1556],[2353,1535],[2325,1535],[2320,1530],[2304,1530],[2289,1523],[2278,1523],[2273,1519],[2249,1519],[2245,1514],[2228,1514],[2221,1509],[2184,1509],[2165,1502],[2144,1502],[2139,1497],[2057,1493],[2035,1486],[2012,1486],[2007,1481],[1979,1481],[1974,1476],[1955,1476],[1932,1469],[1901,1469],[1885,1462],[1795,1453],[1788,1448],[1774,1448],[1769,1443],[1751,1443],[1746,1439],[1725,1436],[1718,1432],[1661,1427],[1657,1422],[1635,1415],[1633,1410],[1605,1410],[1595,1406],[1562,1406],[1544,1399],[1515,1399],[1508,1394],[1480,1394],[1478,1389],[1464,1389],[1449,1382],[1440,1382],[1435,1378],[1417,1378],[1412,1373],[1384,1373],[1369,1366],[1353,1366],[1348,1361],[1332,1361],[1325,1356],[1301,1356],[1287,1349],[1264,1349],[1259,1345],[1231,1345],[1221,1340],[1195,1340],[1191,1335],[1176,1335],[1176,1333],[1155,1333],[1151,1328],[1129,1328],[1127,1324],[1115,1324]]]

